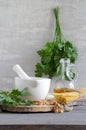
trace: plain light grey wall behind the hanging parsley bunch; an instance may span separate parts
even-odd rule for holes
[[[65,37],[78,48],[77,87],[86,87],[86,0],[0,0],[0,89],[14,87],[16,63],[34,76],[36,51],[53,40],[56,6]]]

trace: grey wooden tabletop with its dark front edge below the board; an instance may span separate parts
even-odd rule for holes
[[[64,113],[0,113],[0,130],[86,130],[86,103]]]

